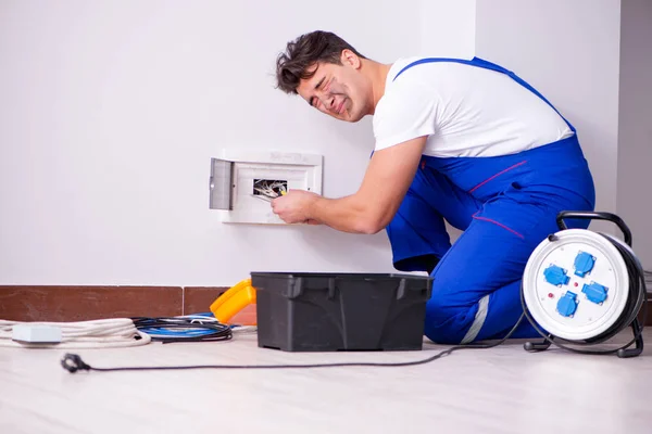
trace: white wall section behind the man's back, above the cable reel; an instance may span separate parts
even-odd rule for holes
[[[477,55],[514,71],[577,128],[605,212],[616,210],[619,31],[617,0],[476,4]]]

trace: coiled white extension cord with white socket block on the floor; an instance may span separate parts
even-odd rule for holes
[[[57,341],[58,333],[61,334],[61,337],[58,340],[59,342],[53,342]],[[117,348],[140,346],[150,342],[151,336],[137,330],[134,321],[129,318],[77,322],[0,320],[0,346],[4,347]]]

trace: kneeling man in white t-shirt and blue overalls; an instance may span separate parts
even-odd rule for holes
[[[434,342],[503,336],[522,314],[528,257],[559,230],[557,214],[593,210],[575,128],[498,65],[477,58],[381,64],[314,31],[287,44],[277,80],[335,118],[373,115],[376,144],[355,194],[292,190],[274,200],[274,213],[344,232],[386,229],[394,268],[434,277],[425,323]],[[444,220],[464,231],[452,246]],[[535,333],[524,323],[513,336]]]

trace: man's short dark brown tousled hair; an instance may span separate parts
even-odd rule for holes
[[[299,81],[311,78],[315,71],[312,66],[317,62],[341,65],[343,50],[360,54],[349,42],[330,31],[316,30],[301,35],[288,42],[286,52],[276,60],[277,89],[286,93],[297,93]]]

